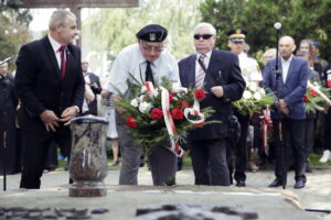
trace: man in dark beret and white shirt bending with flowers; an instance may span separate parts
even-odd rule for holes
[[[161,78],[167,76],[169,80],[180,81],[178,63],[175,58],[164,50],[164,40],[168,31],[159,24],[150,24],[142,28],[137,34],[137,44],[125,47],[117,56],[108,77],[106,91],[102,92],[105,97],[113,94],[114,100],[119,96],[128,97],[128,80],[152,81],[156,86],[161,82]],[[135,81],[134,81],[135,82]],[[117,109],[118,114],[122,113]],[[119,145],[121,146],[121,167],[119,184],[137,185],[137,174],[140,164],[142,148],[134,143],[132,136],[127,132],[125,121],[117,117],[117,132]],[[160,148],[162,147],[162,151]],[[163,151],[169,154],[161,154]],[[166,185],[169,177],[175,175],[177,155],[171,152],[170,143],[164,146],[157,146],[151,155],[151,163],[158,158],[158,163],[151,166],[153,185]],[[164,167],[174,167],[166,168]]]

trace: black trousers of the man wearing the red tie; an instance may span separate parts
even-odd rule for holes
[[[22,131],[23,167],[20,188],[39,189],[49,148],[54,141],[65,156],[70,157],[72,136],[68,128],[44,134]]]

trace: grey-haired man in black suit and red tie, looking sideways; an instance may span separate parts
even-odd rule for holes
[[[55,141],[65,156],[71,153],[70,120],[84,99],[76,16],[54,11],[49,34],[21,47],[17,59],[15,89],[21,99],[23,169],[21,188],[40,188],[47,150]]]

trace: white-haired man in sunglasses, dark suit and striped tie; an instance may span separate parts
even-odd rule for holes
[[[197,24],[193,36],[196,54],[179,63],[181,84],[188,88],[203,87],[206,97],[201,108],[212,107],[215,112],[209,120],[220,121],[190,133],[195,185],[228,186],[226,139],[233,113],[231,102],[242,98],[245,80],[237,55],[214,50],[216,30],[212,24]]]

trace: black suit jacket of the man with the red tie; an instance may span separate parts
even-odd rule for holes
[[[17,59],[15,89],[21,99],[19,124],[22,130],[46,132],[40,114],[52,110],[57,117],[64,109],[82,109],[85,81],[81,67],[81,50],[70,44],[66,50],[66,73],[61,70],[50,40],[31,42],[21,47]]]

